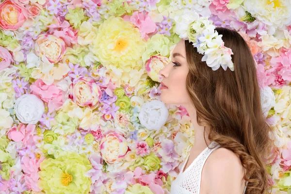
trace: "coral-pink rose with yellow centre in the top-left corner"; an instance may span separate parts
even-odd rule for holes
[[[28,17],[25,7],[14,0],[4,0],[0,3],[0,28],[14,31],[22,26]]]

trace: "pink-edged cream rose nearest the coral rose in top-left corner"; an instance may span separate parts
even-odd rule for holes
[[[62,60],[65,54],[65,42],[62,38],[59,38],[51,34],[41,34],[35,41],[35,51],[38,56],[46,56],[50,63],[57,63]]]

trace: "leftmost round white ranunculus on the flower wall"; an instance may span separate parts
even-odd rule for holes
[[[21,123],[36,124],[45,112],[41,99],[33,94],[24,94],[16,99],[14,109]]]

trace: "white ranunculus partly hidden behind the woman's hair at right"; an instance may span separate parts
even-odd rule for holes
[[[275,95],[273,90],[266,86],[260,89],[261,106],[264,116],[267,117],[270,109],[275,106]]]

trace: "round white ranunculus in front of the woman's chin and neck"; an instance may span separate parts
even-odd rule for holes
[[[167,121],[168,115],[168,109],[162,101],[152,100],[143,105],[138,118],[147,129],[159,130]]]

